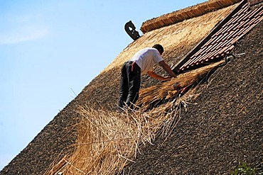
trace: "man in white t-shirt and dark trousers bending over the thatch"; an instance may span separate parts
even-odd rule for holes
[[[139,50],[129,61],[124,62],[121,70],[119,108],[125,105],[133,108],[132,104],[139,98],[141,74],[148,73],[149,77],[162,81],[176,77],[176,74],[174,74],[166,62],[164,62],[161,57],[162,54],[163,46],[154,45],[153,47],[146,47]],[[162,77],[153,72],[155,64],[159,64],[171,77]]]

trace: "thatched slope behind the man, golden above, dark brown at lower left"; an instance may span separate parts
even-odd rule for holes
[[[96,110],[104,108],[105,112],[115,109],[119,92],[120,67],[123,62],[139,49],[160,43],[165,48],[163,57],[166,62],[169,65],[175,64],[205,35],[208,35],[210,30],[233,8],[235,5],[153,30],[128,45],[68,106],[55,116],[54,120],[0,174],[18,174],[19,172],[43,174],[53,161],[53,165],[60,162],[61,159],[61,164],[67,164],[68,157],[64,156],[75,150],[70,147],[76,141],[72,128],[75,130],[74,126],[81,119],[80,113],[75,112],[77,106],[93,106]],[[154,70],[163,74],[159,67]],[[142,88],[159,84],[159,81],[149,79],[147,76],[143,76],[141,80]],[[81,135],[78,136],[81,137]],[[58,168],[58,166],[54,167]]]

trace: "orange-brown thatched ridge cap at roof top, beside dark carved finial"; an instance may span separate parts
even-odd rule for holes
[[[163,16],[159,16],[158,18],[152,18],[149,21],[145,21],[144,23],[142,23],[140,30],[142,31],[142,33],[147,33],[151,30],[170,26],[172,24],[179,23],[190,18],[202,16],[205,13],[231,6],[232,4],[236,4],[240,1],[241,0],[205,1],[195,6],[190,6],[186,9],[173,11],[172,13],[167,13]]]

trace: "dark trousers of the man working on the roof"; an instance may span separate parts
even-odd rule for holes
[[[133,108],[139,98],[139,89],[141,85],[141,68],[134,62],[125,62],[122,65],[121,81],[119,89],[118,106],[122,108],[129,106]]]

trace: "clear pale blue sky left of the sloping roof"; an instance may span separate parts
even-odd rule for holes
[[[132,43],[125,23],[203,1],[0,0],[0,170]]]

